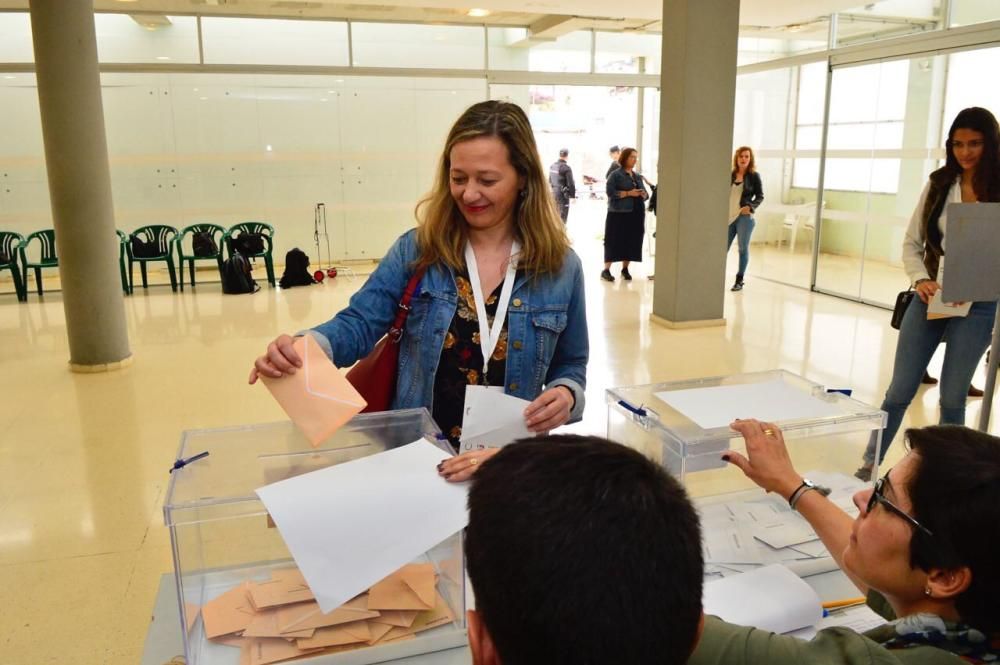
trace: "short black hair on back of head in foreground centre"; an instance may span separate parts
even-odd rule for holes
[[[506,665],[685,663],[701,617],[681,485],[599,437],[508,445],[473,476],[466,562]]]

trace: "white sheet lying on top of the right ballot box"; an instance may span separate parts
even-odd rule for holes
[[[737,418],[779,422],[843,413],[835,404],[804,393],[780,379],[667,390],[655,395],[702,429],[727,427]]]

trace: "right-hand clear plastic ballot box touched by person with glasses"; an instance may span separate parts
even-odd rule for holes
[[[729,428],[735,418],[777,424],[800,473],[848,475],[870,438],[881,445],[885,419],[875,407],[784,370],[611,388],[606,399],[608,438],[662,464],[696,497],[755,487],[721,459],[727,450],[746,453]]]

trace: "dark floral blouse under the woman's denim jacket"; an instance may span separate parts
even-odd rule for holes
[[[518,273],[520,274],[520,272]],[[483,380],[483,350],[479,346],[479,317],[476,300],[469,282],[468,269],[455,273],[458,287],[458,307],[444,338],[441,360],[434,376],[434,422],[458,450],[462,437],[462,414],[465,410],[465,387],[470,385],[503,386],[507,374],[507,319],[497,347],[490,356],[487,381]],[[486,317],[493,326],[497,301],[503,282],[486,299]]]

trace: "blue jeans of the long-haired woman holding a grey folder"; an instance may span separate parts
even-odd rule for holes
[[[927,305],[914,298],[910,303],[896,342],[896,360],[892,367],[892,381],[885,392],[882,410],[888,414],[882,435],[879,463],[892,444],[903,414],[917,394],[920,379],[927,370],[931,356],[942,341],[947,343],[944,367],[941,369],[941,420],[942,425],[965,424],[965,398],[969,384],[976,372],[976,365],[990,344],[996,303],[976,302],[969,315],[950,319],[927,320]],[[868,441],[864,461],[875,460],[875,433]]]

